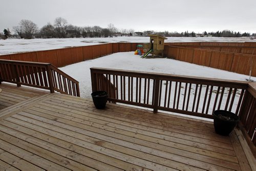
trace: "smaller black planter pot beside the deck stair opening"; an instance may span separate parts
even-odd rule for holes
[[[97,91],[92,94],[93,103],[97,109],[104,109],[106,101],[108,101],[108,93],[105,91]]]

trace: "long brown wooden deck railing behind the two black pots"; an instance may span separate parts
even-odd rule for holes
[[[256,142],[256,88],[248,82],[101,68],[91,68],[91,79],[93,92],[111,91],[110,101],[154,112],[213,118],[215,110],[231,111],[240,116],[248,139]]]

